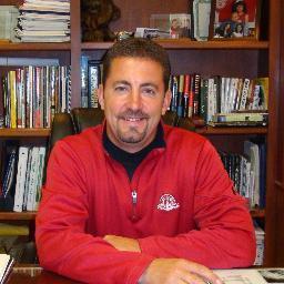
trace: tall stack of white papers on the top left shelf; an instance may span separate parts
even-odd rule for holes
[[[70,41],[70,0],[24,0],[19,10],[22,42]]]

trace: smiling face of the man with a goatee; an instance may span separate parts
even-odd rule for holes
[[[109,139],[134,153],[150,144],[170,103],[162,67],[150,59],[121,57],[112,61],[99,100]]]

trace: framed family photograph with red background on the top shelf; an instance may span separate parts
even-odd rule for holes
[[[213,0],[211,39],[258,39],[261,0]]]

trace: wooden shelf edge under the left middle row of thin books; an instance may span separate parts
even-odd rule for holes
[[[0,138],[48,138],[50,129],[0,129]]]

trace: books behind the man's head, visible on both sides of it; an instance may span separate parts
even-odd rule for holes
[[[91,60],[87,55],[81,58],[82,108],[99,106],[97,91],[102,71],[100,60]],[[206,124],[232,123],[234,120],[242,125],[267,124],[268,78],[178,74],[171,75],[169,88],[172,91],[169,110],[179,116],[201,116]],[[227,115],[235,112],[234,116]],[[222,116],[216,116],[219,113]]]

